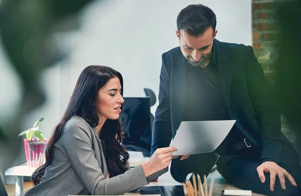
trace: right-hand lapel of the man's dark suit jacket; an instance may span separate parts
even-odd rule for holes
[[[225,48],[224,45],[217,39],[214,40],[214,44],[216,46],[215,51],[219,83],[226,106],[230,111],[230,90],[234,63],[233,53],[231,52],[230,48]]]

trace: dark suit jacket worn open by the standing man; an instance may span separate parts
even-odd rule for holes
[[[243,44],[220,42],[217,39],[214,44],[220,88],[231,119],[235,119],[236,126],[243,134],[260,147],[261,160],[298,163],[299,156],[281,132],[280,111],[274,93],[253,48]],[[187,59],[180,47],[162,55],[159,106],[155,114],[151,153],[159,147],[169,146],[183,120],[186,65]],[[213,155],[207,155],[208,158],[211,160],[202,162],[213,164],[213,159],[216,159]],[[172,161],[171,172],[176,180],[183,181],[183,176],[179,178],[177,174],[182,172],[181,168],[177,168],[177,161],[179,160]]]

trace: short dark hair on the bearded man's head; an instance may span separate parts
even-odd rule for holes
[[[203,34],[209,27],[216,27],[215,13],[203,4],[191,4],[182,9],[177,17],[177,28],[192,36]]]

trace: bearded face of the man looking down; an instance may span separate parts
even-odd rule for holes
[[[191,36],[182,29],[180,30],[180,36],[179,31],[176,30],[181,51],[193,66],[202,66],[206,59],[210,57],[216,33],[217,30],[213,33],[212,27],[209,27],[198,37]]]

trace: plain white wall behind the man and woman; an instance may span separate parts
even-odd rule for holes
[[[45,117],[39,126],[44,136],[49,137],[68,104],[80,72],[90,64],[103,64],[120,71],[124,78],[124,96],[144,96],[143,88],[147,87],[158,97],[161,55],[179,45],[176,18],[182,8],[192,3],[203,3],[216,13],[217,39],[251,44],[251,0],[94,1],[80,14],[79,30],[57,34],[61,44],[71,51],[70,56],[41,74],[39,82],[47,100],[20,122],[23,129]],[[8,67],[9,62],[5,62],[0,63],[1,69]],[[14,98],[21,89],[11,72],[6,69],[0,72],[0,78],[7,73],[15,78],[13,83],[0,85],[1,92],[10,89],[13,96],[13,99],[8,95],[0,97],[7,110],[9,106],[16,108],[20,100]],[[19,159],[24,161],[22,150]]]

